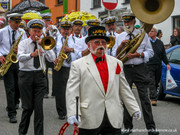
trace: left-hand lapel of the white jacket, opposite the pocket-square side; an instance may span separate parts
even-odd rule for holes
[[[97,66],[96,66],[96,64],[94,62],[94,59],[93,59],[91,54],[89,54],[86,57],[86,64],[87,64],[87,68],[88,68],[89,72],[93,76],[93,78],[96,81],[96,83],[97,83],[98,87],[100,88],[101,92],[103,93],[103,95],[105,95],[104,87],[103,87],[103,84],[102,84],[102,81],[101,81],[99,71],[97,69]]]

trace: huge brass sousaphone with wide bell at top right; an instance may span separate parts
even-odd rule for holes
[[[127,42],[127,44],[130,45],[127,45],[128,47],[125,47],[120,54],[117,55],[117,58],[123,63],[126,62],[128,60],[128,53],[136,52],[145,34],[151,30],[153,24],[160,23],[171,15],[174,9],[174,3],[174,0],[131,0],[130,6],[133,13],[144,24],[141,28],[141,34],[136,36],[136,39],[132,42]],[[123,52],[126,52],[129,48],[131,49],[122,57]]]

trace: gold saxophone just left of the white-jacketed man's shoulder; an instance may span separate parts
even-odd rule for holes
[[[54,70],[59,71],[63,65],[64,60],[68,58],[68,56],[64,53],[64,48],[67,46],[68,36],[66,36],[66,40],[63,43],[61,51],[58,56],[58,62],[54,66]]]

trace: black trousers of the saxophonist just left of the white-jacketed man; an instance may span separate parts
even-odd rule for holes
[[[54,71],[54,92],[56,99],[56,110],[59,116],[66,116],[66,85],[69,78],[69,67],[62,67]]]

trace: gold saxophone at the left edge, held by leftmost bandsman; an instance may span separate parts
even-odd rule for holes
[[[21,35],[18,37],[18,39],[16,40],[16,42],[13,44],[9,54],[6,56],[6,62],[4,64],[1,64],[0,66],[0,75],[1,76],[4,76],[7,71],[9,70],[10,66],[12,65],[12,63],[17,63],[18,60],[17,60],[17,54],[14,53],[14,49],[18,46],[21,38],[22,38],[22,35],[23,35],[23,32],[21,32]]]

